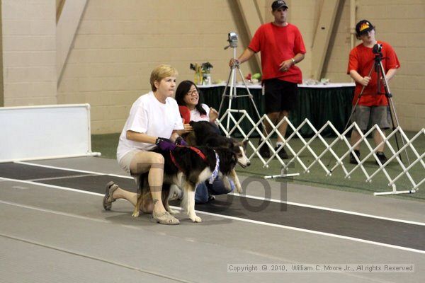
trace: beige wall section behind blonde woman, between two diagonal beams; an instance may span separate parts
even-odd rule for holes
[[[59,103],[90,103],[94,133],[120,132],[132,103],[150,91],[158,64],[193,80],[190,63],[210,62],[212,80],[227,80],[232,50],[227,33],[239,34],[237,53],[249,39],[236,1],[88,1],[58,89]],[[242,66],[247,74],[249,64]]]

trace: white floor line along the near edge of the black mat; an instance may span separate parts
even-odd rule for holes
[[[13,180],[13,179],[8,179],[8,180]],[[84,190],[77,190],[77,189],[72,189],[72,188],[69,188],[69,187],[59,187],[59,186],[46,185],[46,184],[42,184],[42,183],[33,183],[33,182],[30,182],[30,181],[22,181],[22,180],[14,180],[14,181],[22,182],[22,183],[30,183],[30,184],[33,184],[33,185],[40,185],[40,186],[45,186],[45,187],[52,187],[52,188],[60,189],[60,190],[69,190],[69,191],[72,191],[72,192],[83,192],[83,193],[86,193],[86,194],[89,194],[89,195],[98,195],[98,196],[101,196],[101,197],[104,196],[103,194],[99,194],[97,192],[86,192]],[[29,206],[25,206],[25,205],[22,205],[22,204],[13,204],[11,202],[8,203],[8,202],[0,201],[0,203],[31,208]],[[173,207],[173,208],[174,209],[180,209],[179,207]],[[48,209],[46,209],[46,212],[47,212],[47,210]],[[51,211],[51,212],[55,213],[54,211]],[[320,236],[329,236],[329,237],[332,237],[332,238],[341,238],[341,239],[349,240],[349,241],[356,241],[356,242],[360,242],[360,243],[368,243],[368,244],[375,245],[375,246],[383,246],[383,247],[386,247],[386,248],[395,248],[397,250],[406,250],[406,251],[413,252],[413,253],[423,253],[423,254],[425,254],[425,250],[417,250],[417,249],[414,249],[414,248],[406,248],[406,247],[402,247],[402,246],[395,246],[395,245],[390,245],[390,244],[387,244],[387,243],[368,241],[368,240],[363,240],[361,238],[341,236],[341,235],[334,234],[334,233],[319,232],[319,231],[302,229],[302,228],[297,228],[297,227],[292,227],[292,226],[285,226],[285,225],[281,225],[281,224],[272,224],[272,223],[263,222],[263,221],[244,219],[244,218],[239,218],[239,217],[234,217],[234,216],[227,216],[227,215],[215,214],[215,213],[210,213],[210,212],[201,212],[201,211],[198,211],[198,210],[196,212],[199,213],[199,214],[217,216],[217,217],[221,217],[221,218],[225,218],[225,219],[243,221],[243,222],[247,222],[247,223],[251,223],[251,224],[258,224],[258,225],[262,225],[262,226],[270,226],[270,227],[276,227],[276,228],[281,228],[281,229],[288,229],[288,230],[293,230],[293,231],[312,233],[312,234],[316,234],[316,235],[320,235]],[[61,214],[62,212],[59,212],[59,213]],[[65,215],[65,214],[63,214],[63,215]],[[74,216],[74,214],[68,214],[68,216]],[[81,217],[84,217],[84,216],[81,216]],[[92,218],[87,218],[87,219],[94,220]]]

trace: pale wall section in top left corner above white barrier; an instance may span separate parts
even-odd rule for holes
[[[55,2],[1,2],[4,106],[56,104]]]

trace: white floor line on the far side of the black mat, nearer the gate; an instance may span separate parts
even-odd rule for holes
[[[125,175],[105,174],[105,173],[98,173],[98,172],[94,172],[94,171],[81,171],[81,170],[76,170],[76,169],[68,169],[68,168],[61,168],[61,167],[55,167],[55,166],[44,166],[44,165],[41,165],[41,164],[35,164],[35,163],[29,163],[29,162],[16,162],[16,163],[26,164],[26,165],[30,165],[30,166],[38,166],[38,167],[59,169],[59,170],[75,171],[75,172],[82,172],[82,173],[91,173],[91,174],[95,174],[95,175],[109,175],[109,176],[118,177],[118,178],[130,178],[130,179],[132,179],[131,176],[125,176]],[[326,210],[326,211],[329,211],[329,212],[339,212],[339,213],[351,214],[351,215],[363,216],[363,217],[369,217],[369,218],[374,218],[374,219],[382,219],[382,220],[387,220],[387,221],[395,221],[395,222],[400,222],[400,223],[425,226],[425,223],[424,222],[418,222],[418,221],[409,221],[409,220],[404,220],[404,219],[396,219],[396,218],[390,218],[390,217],[385,217],[385,216],[378,216],[378,215],[373,215],[373,214],[365,214],[365,213],[361,213],[361,212],[351,212],[350,210],[334,209],[334,208],[331,208],[331,207],[320,207],[320,206],[311,205],[311,204],[301,204],[301,203],[297,203],[297,202],[286,202],[284,200],[269,199],[269,198],[265,198],[265,197],[256,197],[254,195],[239,195],[237,192],[234,192],[232,194],[233,195],[236,195],[236,196],[240,196],[240,197],[250,198],[250,199],[253,199],[253,200],[263,200],[263,201],[268,201],[268,202],[278,202],[278,203],[283,203],[283,204],[294,205],[294,206],[297,206],[297,207],[308,207],[308,208],[313,208],[313,209]]]

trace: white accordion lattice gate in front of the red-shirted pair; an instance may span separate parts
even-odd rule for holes
[[[235,113],[238,113],[238,115],[240,115],[238,119],[234,118]],[[234,123],[233,127],[229,129],[226,129],[223,123],[223,121],[227,119],[231,120]],[[247,133],[244,132],[244,130],[240,126],[242,121],[249,122],[251,126],[251,129],[249,130],[249,132]],[[272,126],[272,131],[268,133],[266,137],[263,135],[261,128],[259,128],[259,125],[261,125],[261,123],[263,122],[268,122]],[[293,130],[293,133],[290,134],[290,136],[287,139],[284,139],[284,137],[282,137],[281,134],[278,132],[278,127],[283,122],[288,122],[288,127]],[[259,120],[258,122],[254,122],[254,120],[252,120],[251,117],[249,117],[249,114],[246,112],[246,110],[229,109],[224,113],[224,115],[222,115],[222,117],[220,117],[219,127],[220,129],[222,129],[223,132],[225,132],[227,137],[230,137],[235,132],[239,132],[240,134],[242,134],[242,137],[244,139],[249,139],[249,137],[251,137],[253,134],[259,134],[259,136],[262,139],[262,142],[261,144],[259,144],[259,146],[254,146],[254,144],[251,141],[249,141],[248,143],[251,149],[253,149],[254,151],[249,156],[249,159],[253,158],[254,156],[258,156],[259,160],[263,163],[263,166],[266,168],[268,168],[269,163],[273,159],[277,159],[282,166],[280,175],[266,176],[265,178],[278,178],[278,177],[299,175],[299,173],[288,173],[289,169],[291,168],[291,165],[297,162],[303,168],[304,173],[310,173],[310,169],[312,168],[312,166],[314,166],[317,163],[319,164],[319,167],[322,168],[324,173],[326,173],[326,175],[328,176],[331,176],[332,172],[336,170],[336,168],[341,167],[342,170],[344,171],[345,178],[350,179],[353,173],[361,172],[363,173],[363,175],[365,175],[365,181],[368,183],[370,183],[372,179],[376,175],[378,175],[378,173],[383,173],[385,175],[385,178],[388,180],[388,186],[392,187],[392,190],[389,192],[375,192],[374,195],[393,195],[393,194],[414,193],[417,190],[419,190],[419,186],[425,182],[425,162],[424,162],[425,153],[424,152],[419,153],[418,151],[416,151],[414,145],[412,144],[414,141],[418,140],[419,138],[425,137],[424,128],[421,129],[417,134],[415,134],[414,137],[409,139],[407,135],[403,132],[401,127],[397,127],[390,134],[388,134],[387,137],[385,137],[385,134],[383,134],[381,129],[378,127],[378,125],[374,125],[371,129],[368,130],[368,132],[366,132],[365,134],[361,134],[361,139],[356,144],[351,146],[350,141],[346,138],[346,134],[351,132],[351,129],[353,128],[357,129],[358,132],[361,133],[361,130],[358,128],[358,125],[356,124],[356,122],[350,125],[344,132],[339,133],[338,130],[334,127],[334,125],[332,125],[331,122],[329,121],[325,125],[323,125],[320,129],[316,129],[312,125],[312,123],[307,119],[305,119],[298,127],[294,127],[294,125],[290,122],[290,120],[288,120],[287,117],[284,117],[283,120],[280,120],[278,125],[273,125],[273,122],[271,122],[271,120],[268,119],[267,115],[263,115],[263,117],[261,117],[261,120]],[[306,139],[304,139],[300,134],[300,129],[302,129],[302,127],[310,127],[312,131],[314,132],[313,137],[311,137],[308,141],[306,141]],[[336,135],[336,137],[334,138],[333,141],[331,141],[331,143],[328,143],[324,139],[324,137],[322,137],[322,132],[324,131],[324,129],[327,129],[327,128],[330,128],[332,132],[334,132],[334,134]],[[378,144],[378,146],[371,145],[368,139],[366,139],[368,134],[372,133],[375,129],[378,131],[378,133],[381,135],[383,139],[381,144]],[[278,135],[278,137],[283,139],[283,146],[285,146],[285,148],[288,149],[289,151],[288,153],[293,155],[293,157],[290,158],[288,162],[286,163],[278,156],[278,152],[274,150],[273,145],[271,144],[270,139],[273,136],[273,134],[276,134]],[[392,146],[392,144],[390,143],[390,139],[392,137],[395,137],[395,134],[399,134],[404,140],[404,145],[400,147],[399,149],[395,149],[394,146]],[[293,149],[293,146],[291,146],[291,143],[290,143],[291,139],[293,139],[294,137],[299,138],[302,143],[302,148],[297,151]],[[321,144],[325,147],[324,151],[321,151],[319,153],[314,152],[314,149],[312,149],[311,144],[313,141],[316,141],[316,140],[319,140]],[[339,146],[341,142],[345,144],[347,149],[346,151],[344,151],[344,154],[337,154],[335,149],[337,146]],[[354,168],[348,171],[348,169],[344,165],[344,159],[347,160],[349,154],[353,151],[353,148],[357,146],[358,144],[360,144],[361,142],[365,143],[368,149],[368,153],[363,158],[360,158],[360,159],[358,159],[356,154],[354,154],[356,160],[358,161],[358,164],[356,164]],[[376,156],[376,151],[383,143],[385,143],[385,146],[387,147],[387,149],[390,150],[392,156],[388,158],[388,161],[382,164],[380,163],[378,157]],[[263,158],[263,156],[259,154],[259,148],[263,144],[266,144],[271,151],[271,156],[268,159]],[[280,149],[282,148],[283,147],[281,147]],[[400,156],[404,155],[404,152],[407,152],[407,149],[409,149],[409,152],[413,154],[414,158],[412,158],[412,156],[410,155],[411,157],[410,160],[412,162],[408,166],[405,166]],[[307,164],[306,161],[303,161],[302,158],[300,158],[300,155],[304,151],[310,152],[311,156],[314,158],[312,163]],[[325,154],[328,154],[328,157],[324,157]],[[328,168],[329,164],[328,166],[324,164],[325,160],[326,160],[325,163],[329,162],[329,154],[331,154],[331,158],[334,158],[334,166],[331,167],[331,169]],[[368,173],[368,171],[366,171],[365,166],[363,166],[365,161],[367,161],[368,158],[370,158],[370,156],[373,156],[375,158],[375,161],[378,163],[377,169],[371,174]],[[322,160],[322,158],[324,160]],[[397,173],[396,176],[391,176],[390,173],[388,173],[386,168],[388,164],[390,164],[392,161],[396,161],[399,164],[399,167],[401,168],[401,170],[399,171],[399,173]],[[413,168],[413,166],[421,166],[421,168],[424,169],[423,171],[424,174],[421,174],[421,176],[419,177],[416,176],[416,181],[414,180],[412,175],[409,173],[409,170]],[[409,180],[409,183],[402,183],[401,186],[406,188],[409,187],[409,189],[399,191],[397,190],[396,183],[397,181],[400,180],[402,176],[407,177],[407,180]]]

